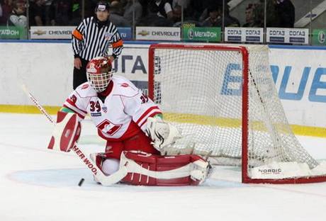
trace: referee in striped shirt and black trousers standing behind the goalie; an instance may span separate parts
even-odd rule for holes
[[[87,81],[86,65],[94,57],[108,57],[115,60],[123,50],[123,41],[116,26],[108,20],[109,4],[99,1],[96,4],[95,14],[85,18],[72,33],[72,49],[74,50],[74,78],[73,87]],[[113,53],[108,55],[108,47],[112,45]]]

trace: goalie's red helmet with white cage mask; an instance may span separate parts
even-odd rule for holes
[[[87,79],[98,93],[105,91],[112,78],[112,63],[106,57],[95,57],[86,67]]]

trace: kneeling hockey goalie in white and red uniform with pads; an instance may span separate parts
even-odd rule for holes
[[[106,140],[105,152],[91,159],[106,176],[127,169],[124,183],[145,186],[198,185],[209,170],[192,152],[175,154],[181,135],[163,120],[162,111],[128,79],[113,76],[111,61],[96,57],[87,64],[88,81],[70,94],[57,114],[49,149],[69,152],[79,139],[87,113]]]

